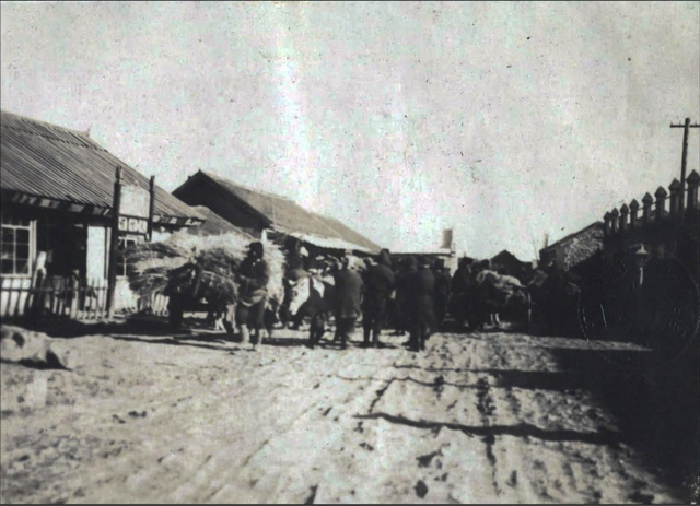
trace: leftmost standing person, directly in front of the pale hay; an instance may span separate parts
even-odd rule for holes
[[[265,302],[270,267],[264,258],[262,243],[256,240],[248,246],[248,255],[241,263],[236,281],[240,299],[236,307],[236,325],[241,330],[241,342],[250,340],[249,328],[254,330],[253,344],[261,343],[260,328],[265,326]]]

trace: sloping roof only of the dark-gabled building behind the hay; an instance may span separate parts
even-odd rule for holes
[[[327,243],[324,239],[331,238],[341,239],[343,247],[357,245],[360,246],[358,249],[368,249],[372,252],[378,252],[381,249],[380,246],[338,220],[311,212],[285,197],[249,188],[203,170],[199,170],[189,177],[174,190],[174,193],[178,195],[186,187],[197,185],[198,181],[202,180],[209,181],[230,196],[237,198],[238,201],[242,201],[275,231],[296,235],[302,234],[306,236],[310,243],[313,243],[315,238],[319,246]]]

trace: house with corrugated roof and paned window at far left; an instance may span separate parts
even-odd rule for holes
[[[105,280],[108,270],[116,167],[121,183],[145,193],[150,181],[92,140],[86,132],[2,111],[3,316],[23,311],[33,278]],[[173,232],[205,217],[154,187],[153,232]],[[147,208],[150,204],[148,199]],[[128,232],[120,246],[142,240]],[[117,256],[118,287],[128,299],[126,266]],[[120,275],[119,275],[120,274]],[[100,284],[100,283],[97,283]],[[7,292],[13,289],[14,301]],[[8,298],[10,297],[10,298]],[[122,298],[124,298],[122,297]],[[128,303],[127,303],[128,304]]]

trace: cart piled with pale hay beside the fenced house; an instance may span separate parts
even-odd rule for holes
[[[130,289],[141,298],[168,297],[170,322],[179,328],[185,313],[206,311],[234,331],[238,303],[236,274],[252,239],[237,234],[197,236],[177,232],[164,242],[142,243],[125,252]],[[284,255],[262,242],[270,267],[267,309],[276,311],[284,295]]]

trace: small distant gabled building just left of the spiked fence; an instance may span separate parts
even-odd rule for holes
[[[571,270],[603,249],[604,228],[602,222],[594,222],[540,249],[540,266],[547,267],[553,262],[565,271]]]

